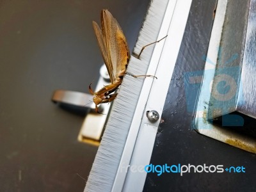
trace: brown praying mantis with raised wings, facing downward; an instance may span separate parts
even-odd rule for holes
[[[98,92],[93,92],[91,87],[92,83],[89,86],[90,93],[94,95],[93,102],[95,103],[95,111],[99,113],[97,107],[99,104],[111,102],[116,98],[117,93],[113,92],[115,92],[116,88],[118,88],[118,86],[120,86],[120,84],[122,83],[131,56],[122,29],[120,28],[116,19],[111,15],[108,10],[101,11],[101,29],[99,25],[94,21],[93,29],[95,31],[95,35],[97,37],[97,41],[100,47],[100,52],[107,67],[111,81],[111,84],[104,86]],[[146,46],[141,49],[141,52]],[[137,58],[140,58],[140,54],[138,54]],[[143,75],[143,77],[154,76]]]

